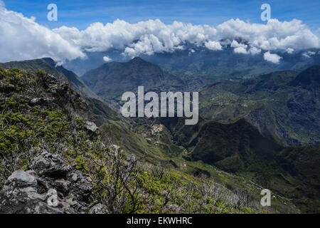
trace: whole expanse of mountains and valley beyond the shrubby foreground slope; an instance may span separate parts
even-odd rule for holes
[[[296,56],[291,65],[277,65],[236,56],[199,53],[198,61],[188,63],[176,52],[163,54],[159,66],[151,57],[152,63],[133,58],[104,63],[81,78],[50,58],[0,67],[42,69],[67,82],[86,100],[105,143],[111,140],[150,164],[166,161],[230,190],[268,187],[279,211],[318,212],[320,66],[309,66],[318,57],[299,63]],[[199,89],[198,124],[184,125],[183,118],[122,118],[121,95],[137,86],[158,93]]]

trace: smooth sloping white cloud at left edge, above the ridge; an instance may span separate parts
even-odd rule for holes
[[[85,53],[36,19],[0,7],[0,62],[52,57],[55,61],[84,58]]]

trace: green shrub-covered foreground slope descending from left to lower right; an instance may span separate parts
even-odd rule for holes
[[[0,90],[0,186],[44,148],[89,174],[95,185],[90,202],[113,213],[263,212],[245,190],[146,165],[110,145],[110,138],[87,128],[92,119],[85,100],[43,71],[0,68]]]

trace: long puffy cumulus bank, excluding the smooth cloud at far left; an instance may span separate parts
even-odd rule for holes
[[[117,20],[112,24],[95,23],[85,30],[61,27],[53,31],[85,51],[124,50],[128,56],[172,52],[183,49],[186,43],[221,50],[225,39],[232,41],[236,53],[257,54],[287,48],[319,48],[320,39],[302,21],[278,21],[267,24],[250,24],[240,19],[230,19],[217,27],[208,25],[163,24],[159,19],[129,24]],[[242,38],[246,44],[235,41]]]

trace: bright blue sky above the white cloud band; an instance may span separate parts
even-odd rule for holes
[[[192,24],[216,26],[228,19],[250,20],[251,23],[265,23],[260,20],[260,6],[271,6],[271,17],[279,21],[299,19],[312,31],[319,33],[319,0],[284,1],[235,1],[235,0],[117,0],[117,1],[66,1],[66,0],[4,0],[6,9],[18,11],[25,16],[35,16],[39,24],[49,28],[75,26],[87,28],[93,22],[112,23],[122,19],[130,23],[161,19],[165,24],[182,21]],[[47,21],[47,6],[58,6],[58,21]]]

